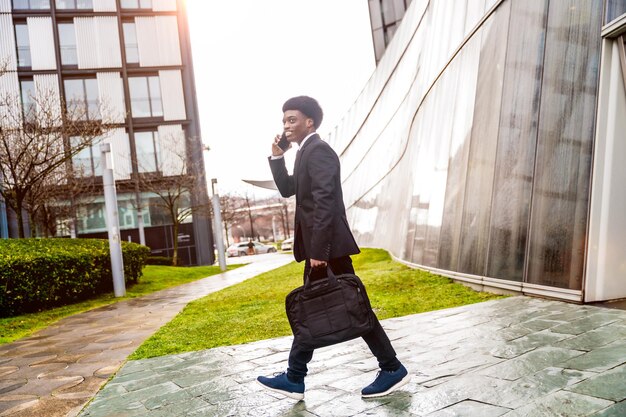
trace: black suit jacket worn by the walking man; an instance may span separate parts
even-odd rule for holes
[[[284,158],[269,160],[280,194],[296,195],[296,261],[328,261],[359,253],[346,219],[335,151],[315,134],[298,151],[293,175],[287,172]]]

